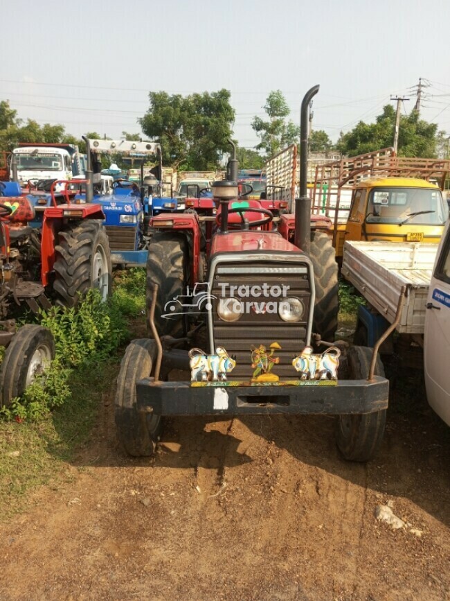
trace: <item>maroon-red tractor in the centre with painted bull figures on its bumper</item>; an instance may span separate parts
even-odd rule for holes
[[[337,265],[330,238],[311,229],[307,112],[317,91],[302,103],[294,244],[271,229],[269,209],[237,199],[236,165],[232,180],[213,184],[219,208],[204,253],[196,213],[153,218],[151,334],[127,347],[116,394],[118,436],[129,454],[154,452],[165,416],[272,413],[336,415],[346,459],[366,461],[377,451],[388,381],[365,347],[350,349],[338,372],[345,347],[334,346]],[[190,380],[168,381],[172,369],[190,371]]]

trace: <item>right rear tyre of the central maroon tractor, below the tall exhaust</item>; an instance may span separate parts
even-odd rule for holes
[[[338,266],[332,239],[325,232],[311,232],[310,258],[314,267],[316,304],[312,331],[334,342],[339,313]]]

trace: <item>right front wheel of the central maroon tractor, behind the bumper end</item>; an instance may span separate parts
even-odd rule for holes
[[[372,349],[351,347],[347,354],[350,380],[365,380],[369,375]],[[384,367],[377,356],[375,375],[384,376]],[[336,442],[339,451],[349,461],[368,461],[377,453],[384,435],[386,409],[373,413],[339,415]]]

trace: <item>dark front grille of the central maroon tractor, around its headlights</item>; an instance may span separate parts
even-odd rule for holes
[[[307,338],[307,328],[311,313],[311,278],[312,268],[307,259],[305,262],[289,261],[286,255],[280,261],[246,261],[244,258],[237,263],[219,262],[215,267],[213,280],[210,281],[210,292],[216,297],[213,300],[213,311],[210,319],[213,325],[214,348],[222,346],[229,355],[235,355],[237,365],[233,369],[232,377],[249,378],[253,373],[251,367],[251,345],[264,345],[266,348],[272,342],[278,342],[281,350],[276,351],[280,363],[273,367],[273,373],[283,378],[289,376],[296,378],[292,367],[292,358],[304,347]],[[305,313],[300,322],[287,323],[276,313],[257,313],[253,308],[244,312],[239,320],[226,322],[217,315],[217,305],[221,298],[229,297],[228,292],[223,294],[221,283],[230,286],[251,286],[267,284],[267,286],[289,286],[286,297],[298,297],[303,301]],[[314,284],[313,284],[314,286]],[[251,290],[250,290],[251,293]],[[279,302],[281,297],[242,297],[233,294],[244,304],[253,302]],[[261,307],[261,306],[260,306]],[[247,311],[247,305],[245,307]],[[273,306],[271,307],[273,308]]]

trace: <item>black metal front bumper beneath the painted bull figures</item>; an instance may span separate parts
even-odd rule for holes
[[[388,406],[389,382],[373,380],[289,381],[277,385],[248,382],[136,383],[138,410],[155,415],[239,414],[356,414],[372,413]]]

